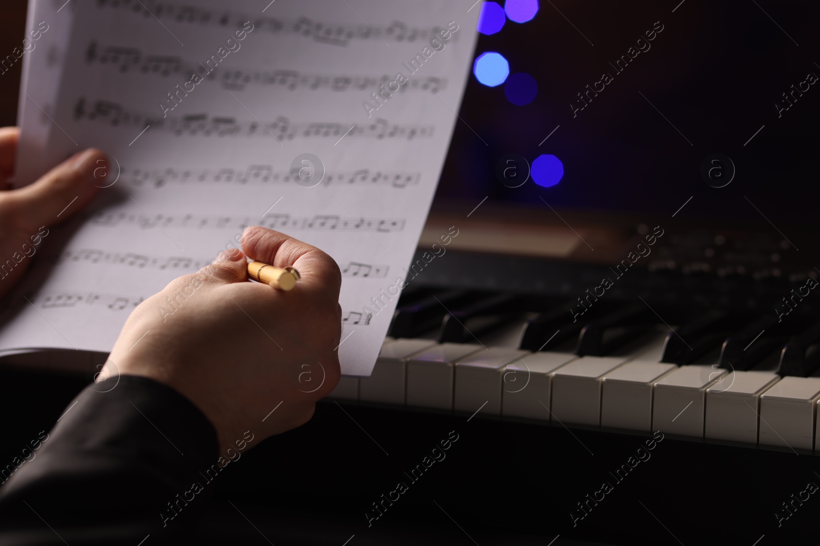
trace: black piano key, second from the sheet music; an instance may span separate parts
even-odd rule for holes
[[[472,301],[460,308],[450,308],[441,323],[439,343],[469,343],[481,333],[509,323],[521,314],[519,300],[517,296],[499,294]],[[475,318],[483,318],[481,325],[468,327],[467,322]]]

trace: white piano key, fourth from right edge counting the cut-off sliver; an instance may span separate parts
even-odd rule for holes
[[[669,434],[704,436],[706,389],[727,371],[681,366],[655,382],[652,428]]]

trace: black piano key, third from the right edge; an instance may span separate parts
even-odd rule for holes
[[[719,347],[736,326],[739,318],[727,311],[710,310],[669,332],[663,345],[661,362],[677,365],[695,362],[709,350]]]

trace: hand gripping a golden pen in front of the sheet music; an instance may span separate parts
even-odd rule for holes
[[[255,444],[307,422],[340,373],[339,266],[266,228],[246,229],[242,250],[223,252],[134,309],[101,373],[180,391],[212,422],[223,454],[245,431]],[[248,282],[246,255],[292,265],[301,278],[287,292]]]

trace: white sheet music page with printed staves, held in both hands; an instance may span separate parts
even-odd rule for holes
[[[408,276],[479,10],[435,0],[57,3],[30,9],[50,25],[52,58],[47,47],[26,56],[24,90],[39,94],[21,96],[16,183],[92,146],[112,172],[34,257],[0,315],[0,350],[107,352],[136,305],[262,225],[339,263],[342,372],[369,375],[398,297],[376,312],[372,300]]]

